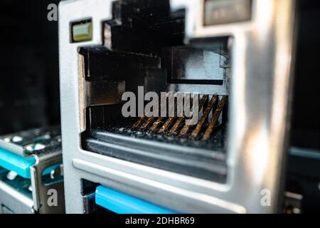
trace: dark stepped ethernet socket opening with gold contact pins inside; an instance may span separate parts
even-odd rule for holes
[[[231,38],[186,45],[185,11],[171,11],[169,1],[116,1],[112,9],[113,19],[103,23],[104,45],[79,48],[85,104],[82,148],[226,182]],[[138,116],[123,113],[127,92],[136,101],[127,110],[136,110]],[[158,96],[144,99],[149,92]],[[190,118],[186,110],[178,111],[177,93],[183,105],[193,107]],[[148,115],[144,111],[153,99],[159,106],[150,109],[156,115]],[[195,113],[198,121],[187,124]]]

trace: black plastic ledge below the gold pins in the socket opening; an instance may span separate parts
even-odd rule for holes
[[[159,135],[154,137],[158,138]],[[225,183],[227,177],[225,152],[169,144],[156,141],[155,138],[146,140],[105,131],[92,131],[83,137],[82,147],[84,150],[129,162]]]

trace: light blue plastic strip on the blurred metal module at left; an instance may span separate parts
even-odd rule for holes
[[[0,148],[0,166],[6,170],[14,171],[21,177],[30,179],[30,167],[36,164],[36,158],[23,157]]]

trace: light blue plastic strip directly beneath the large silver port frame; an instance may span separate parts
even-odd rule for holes
[[[118,214],[176,214],[164,207],[156,206],[105,186],[95,190],[95,203]]]

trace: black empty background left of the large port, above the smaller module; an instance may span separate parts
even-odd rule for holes
[[[56,0],[0,1],[0,134],[60,121]]]

